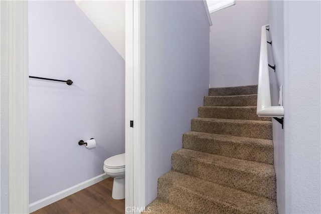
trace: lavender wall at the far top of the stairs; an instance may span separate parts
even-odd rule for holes
[[[267,1],[236,1],[211,18],[211,87],[256,85],[261,26],[268,22]]]

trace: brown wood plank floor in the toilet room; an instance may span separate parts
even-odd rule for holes
[[[109,177],[68,197],[45,206],[33,214],[40,213],[125,213],[125,199],[111,197],[113,178]]]

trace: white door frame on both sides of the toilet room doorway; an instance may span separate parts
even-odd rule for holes
[[[3,1],[1,21],[8,26],[9,212],[29,212],[28,2]],[[126,1],[126,212],[145,205],[144,2]],[[3,38],[1,38],[3,41]],[[5,41],[5,40],[4,40]],[[3,63],[3,62],[1,62]],[[134,128],[129,121],[134,121]]]

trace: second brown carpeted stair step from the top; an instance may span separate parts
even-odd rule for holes
[[[257,94],[206,96],[204,106],[256,106]]]

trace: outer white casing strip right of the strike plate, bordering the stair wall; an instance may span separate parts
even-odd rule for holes
[[[145,206],[145,1],[134,1],[133,6],[133,206],[141,210]]]

